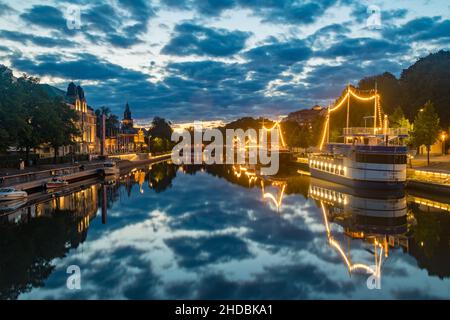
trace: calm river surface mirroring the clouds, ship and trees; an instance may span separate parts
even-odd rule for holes
[[[450,298],[450,206],[420,193],[161,163],[34,201],[1,208],[2,299]]]

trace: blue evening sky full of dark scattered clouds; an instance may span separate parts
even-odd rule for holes
[[[276,118],[449,45],[448,0],[0,0],[0,64],[142,121]]]

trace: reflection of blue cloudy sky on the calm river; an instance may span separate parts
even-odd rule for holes
[[[332,227],[341,237],[342,228]],[[55,272],[45,287],[22,298],[406,297],[410,291],[402,291],[401,285],[406,276],[426,278],[416,271],[414,259],[396,259],[401,254],[391,252],[383,290],[370,291],[366,275],[350,277],[327,244],[314,202],[285,195],[278,214],[261,200],[257,188],[206,173],[178,174],[165,192],[140,195],[133,188],[131,198],[114,203],[108,224],[94,220],[87,241],[53,261]],[[365,261],[371,254],[352,241],[351,256]],[[65,287],[70,264],[82,270],[79,292]]]

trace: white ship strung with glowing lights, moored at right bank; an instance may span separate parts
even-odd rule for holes
[[[350,97],[374,100],[373,127],[350,128]],[[407,128],[389,128],[387,116],[381,116],[379,95],[361,97],[353,89],[333,108],[328,109],[319,153],[310,154],[311,176],[354,188],[401,188],[406,182],[408,149],[403,145]],[[347,101],[347,127],[343,143],[330,143],[330,115]],[[378,121],[377,121],[378,119]]]

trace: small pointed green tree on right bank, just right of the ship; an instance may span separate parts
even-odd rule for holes
[[[439,116],[434,110],[433,103],[427,101],[414,120],[413,137],[418,147],[426,146],[428,165],[430,165],[431,145],[436,142],[439,131]]]

